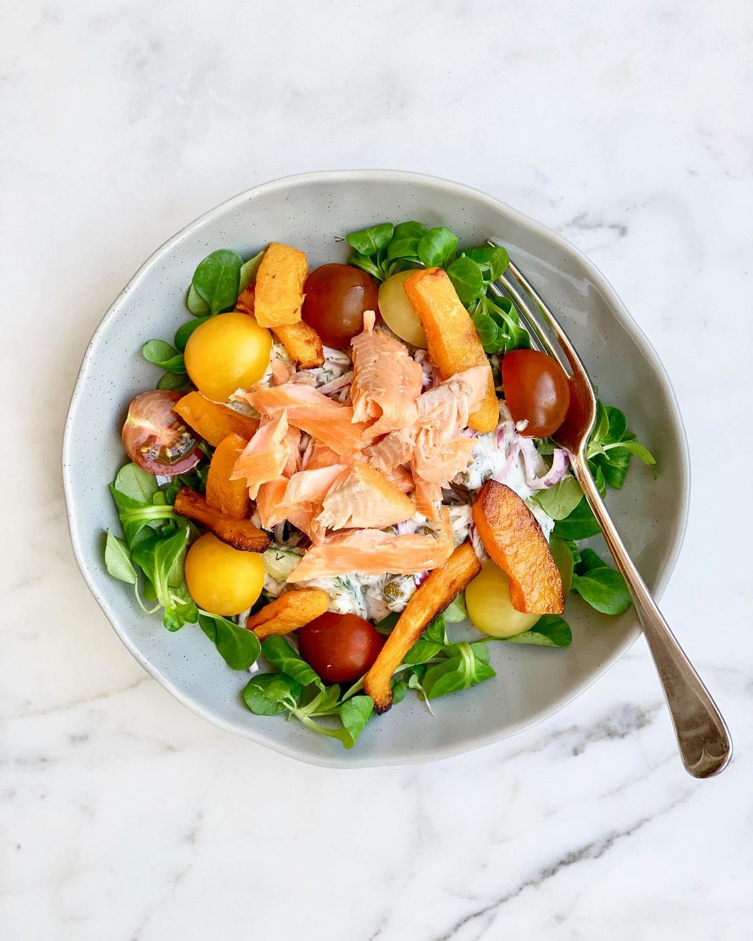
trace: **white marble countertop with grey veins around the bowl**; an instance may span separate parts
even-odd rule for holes
[[[3,937],[750,938],[745,0],[4,14]],[[683,773],[642,641],[518,738],[346,774],[206,725],[109,628],[72,559],[59,473],[88,338],[196,215],[337,167],[437,174],[541,219],[656,346],[693,458],[664,609],[729,720],[719,778]]]

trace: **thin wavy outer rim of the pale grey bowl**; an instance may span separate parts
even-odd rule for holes
[[[168,678],[163,676],[159,670],[157,670],[147,657],[141,654],[137,646],[131,641],[131,639],[126,634],[125,630],[122,630],[118,621],[118,618],[115,616],[111,610],[109,603],[106,598],[97,590],[96,584],[93,581],[93,578],[89,574],[89,567],[87,562],[86,553],[81,539],[81,528],[79,526],[78,514],[76,511],[75,503],[72,495],[72,477],[70,475],[69,468],[71,467],[71,455],[73,449],[73,434],[72,426],[75,421],[76,411],[78,407],[79,400],[82,398],[84,387],[86,385],[87,374],[89,367],[97,353],[97,346],[100,340],[101,334],[104,332],[105,327],[107,327],[111,320],[113,320],[119,310],[120,305],[126,295],[130,292],[136,290],[140,282],[147,276],[151,271],[154,263],[157,263],[161,258],[166,256],[174,247],[178,246],[184,238],[189,235],[192,235],[194,232],[199,231],[207,223],[214,221],[217,216],[224,215],[236,206],[241,205],[242,203],[248,201],[248,199],[254,199],[255,197],[261,194],[275,193],[276,191],[289,189],[291,186],[307,185],[309,183],[338,183],[338,182],[360,182],[360,183],[383,183],[383,182],[393,182],[393,183],[418,183],[418,184],[430,184],[435,188],[440,188],[448,193],[453,193],[457,196],[465,196],[472,198],[476,201],[485,203],[489,208],[495,210],[501,210],[506,215],[509,215],[515,218],[518,222],[527,227],[530,231],[533,231],[538,237],[545,238],[549,240],[556,247],[560,247],[573,256],[579,263],[581,263],[587,275],[592,279],[599,287],[606,303],[613,311],[616,313],[619,319],[622,322],[622,326],[626,329],[628,334],[632,337],[633,342],[640,347],[646,359],[649,360],[650,367],[659,375],[662,383],[665,387],[665,393],[667,400],[670,406],[670,409],[674,412],[674,422],[676,424],[676,429],[678,431],[678,436],[680,439],[680,473],[678,480],[678,490],[679,490],[679,499],[680,499],[680,515],[677,520],[677,523],[674,526],[674,533],[672,540],[668,547],[668,550],[665,554],[665,559],[659,567],[659,572],[656,579],[656,587],[654,590],[654,597],[659,599],[664,594],[664,590],[669,577],[674,570],[675,565],[677,564],[678,557],[680,555],[682,543],[684,541],[685,532],[687,529],[688,521],[688,512],[690,504],[690,454],[688,449],[688,440],[687,434],[685,432],[685,426],[682,421],[680,407],[677,401],[677,395],[672,386],[672,383],[667,375],[665,370],[664,363],[659,359],[656,350],[653,345],[650,343],[648,337],[644,333],[643,329],[638,326],[638,324],[633,320],[633,316],[627,310],[622,300],[620,299],[617,292],[612,287],[610,282],[604,277],[601,273],[601,270],[597,267],[596,264],[590,261],[587,256],[578,248],[574,246],[568,239],[560,235],[558,232],[553,231],[548,226],[544,225],[541,222],[538,222],[537,219],[531,218],[529,215],[521,213],[520,210],[515,209],[513,206],[510,206],[508,203],[502,199],[496,199],[495,197],[490,196],[488,193],[483,190],[477,189],[473,186],[469,186],[465,183],[456,183],[451,180],[444,179],[443,177],[432,176],[425,173],[416,173],[409,170],[397,170],[397,169],[341,169],[341,170],[314,170],[306,173],[296,173],[289,176],[279,177],[275,180],[270,180],[266,183],[258,183],[255,186],[243,190],[237,195],[231,197],[230,199],[225,199],[224,201],[218,203],[214,208],[208,210],[202,215],[195,218],[193,221],[185,225],[181,230],[177,231],[174,235],[171,235],[160,247],[156,248],[152,254],[142,263],[136,273],[131,279],[128,280],[125,287],[120,291],[120,293],[110,304],[107,311],[105,311],[102,320],[97,325],[94,333],[91,336],[91,339],[88,342],[87,349],[84,353],[83,359],[81,361],[81,366],[79,367],[78,374],[76,376],[75,385],[73,387],[71,400],[68,407],[68,412],[66,415],[66,421],[63,431],[62,439],[62,448],[61,448],[61,458],[62,458],[62,480],[63,480],[63,495],[65,500],[66,507],[66,518],[68,521],[68,531],[69,537],[71,539],[71,545],[73,550],[73,556],[75,558],[76,564],[79,567],[79,570],[84,578],[84,581],[87,583],[88,589],[91,594],[94,596],[95,600],[102,609],[105,617],[110,622],[110,625],[115,630],[117,635],[120,637],[120,641],[124,646],[131,652],[131,654],[136,658],[136,661],[141,664],[141,666],[156,679],[161,686],[163,686],[168,693],[175,696],[175,698],[181,702],[186,708],[192,712],[199,715],[202,719],[211,723],[213,726],[222,728],[227,732],[231,732],[234,735],[237,735],[243,739],[246,739],[249,742],[254,742],[258,745],[263,745],[266,748],[270,748],[272,751],[275,751],[281,755],[285,755],[288,758],[295,758],[298,761],[303,761],[307,764],[316,765],[324,768],[344,768],[344,769],[355,769],[355,768],[372,768],[372,767],[384,767],[384,766],[396,766],[396,765],[406,765],[406,764],[423,764],[430,761],[438,761],[445,758],[454,758],[458,755],[463,755],[467,752],[471,752],[477,748],[484,747],[485,745],[493,744],[494,742],[501,742],[503,739],[510,738],[513,735],[518,735],[521,732],[525,731],[528,728],[539,725],[539,723],[544,722],[546,719],[552,717],[559,710],[564,709],[573,699],[575,699],[580,694],[584,693],[592,683],[595,683],[597,679],[601,678],[603,674],[613,666],[627,650],[635,643],[637,638],[642,633],[640,625],[638,623],[637,617],[634,618],[634,624],[631,630],[626,633],[625,638],[619,646],[615,648],[613,653],[601,662],[598,668],[593,672],[593,674],[585,678],[580,683],[575,684],[567,694],[564,694],[556,704],[549,709],[541,710],[536,715],[530,719],[521,720],[512,726],[505,726],[505,728],[500,729],[498,732],[478,735],[474,738],[469,738],[464,742],[457,744],[448,744],[437,746],[434,752],[430,755],[424,753],[412,757],[410,755],[401,756],[398,758],[393,758],[390,756],[380,756],[369,755],[369,756],[360,756],[357,750],[353,752],[348,752],[346,755],[332,755],[331,757],[325,756],[312,756],[308,754],[301,753],[295,747],[290,747],[281,742],[275,742],[273,740],[262,739],[249,734],[249,726],[242,725],[240,722],[232,723],[225,721],[223,719],[216,718],[215,716],[209,714],[204,708],[203,704],[193,698],[190,694],[185,693],[182,689],[177,687],[172,683]],[[634,612],[634,609],[633,609]]]

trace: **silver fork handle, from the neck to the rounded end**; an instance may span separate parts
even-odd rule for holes
[[[625,549],[588,470],[585,455],[570,455],[570,462],[585,499],[599,520],[601,532],[617,568],[633,596],[635,611],[665,691],[685,770],[694,777],[718,774],[732,757],[732,742],[727,725],[675,635],[669,630],[646,582]]]

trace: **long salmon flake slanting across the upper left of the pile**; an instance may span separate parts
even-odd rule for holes
[[[337,455],[350,455],[364,443],[366,425],[353,421],[353,409],[296,382],[274,388],[257,386],[248,402],[269,418],[287,411],[288,422],[326,444]]]

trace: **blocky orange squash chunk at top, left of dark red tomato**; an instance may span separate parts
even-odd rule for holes
[[[272,242],[256,273],[254,316],[260,327],[280,327],[300,320],[303,285],[309,274],[297,248]]]

